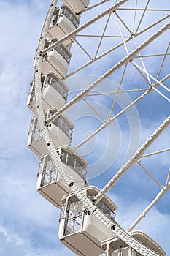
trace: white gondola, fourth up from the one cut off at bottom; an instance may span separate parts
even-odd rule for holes
[[[51,115],[53,115],[53,110],[47,112],[47,117]],[[55,148],[71,144],[73,128],[74,126],[71,121],[64,115],[55,118],[52,123],[48,125],[47,129],[49,130]],[[39,129],[39,122],[36,116],[31,118],[30,131],[28,133],[28,146],[39,158],[48,153],[47,146],[42,139],[42,133]]]

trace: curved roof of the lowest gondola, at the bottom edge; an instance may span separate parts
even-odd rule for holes
[[[152,251],[158,253],[158,255],[161,255],[161,256],[166,255],[162,247],[143,231],[134,230],[134,231],[131,231],[130,234],[131,236],[136,238],[136,240],[144,244],[144,246],[147,246],[149,249],[152,249]],[[122,248],[128,247],[128,244],[125,244],[125,242],[120,240],[120,238],[111,238],[111,239],[107,239],[106,241],[102,241],[101,246],[104,249],[106,249],[106,244],[108,243],[112,251],[114,250],[116,251],[117,249],[120,249],[120,247]]]

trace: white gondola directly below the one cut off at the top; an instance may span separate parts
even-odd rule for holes
[[[59,8],[55,8],[53,13],[49,29],[47,31],[47,35],[50,39],[54,39],[57,37],[60,39],[61,37],[66,36],[70,32],[77,29],[79,26],[80,17],[75,15],[75,13],[66,5],[62,5]],[[68,46],[72,44],[74,39],[69,39],[63,42],[64,45]]]

